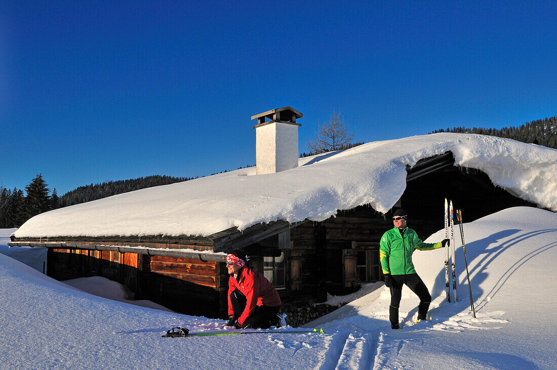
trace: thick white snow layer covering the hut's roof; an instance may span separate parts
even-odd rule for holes
[[[510,193],[557,211],[557,150],[441,133],[305,157],[276,174],[255,175],[251,167],[56,209],[28,220],[14,236],[207,236],[276,220],[321,221],[365,204],[387,212],[404,192],[406,166],[446,151],[455,165],[482,170]]]

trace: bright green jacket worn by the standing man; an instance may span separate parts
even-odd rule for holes
[[[432,250],[442,248],[441,243],[424,243],[416,231],[405,228],[401,234],[398,228],[386,231],[379,242],[379,259],[383,274],[416,274],[412,263],[414,250]]]

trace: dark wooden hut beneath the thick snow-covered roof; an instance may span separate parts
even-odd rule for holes
[[[407,187],[394,208],[408,211],[421,238],[443,227],[450,198],[466,221],[517,205],[536,206],[492,184],[488,176],[456,167],[451,152],[407,168]],[[226,317],[226,253],[243,249],[253,269],[275,284],[284,302],[319,302],[326,293],[353,292],[380,280],[379,240],[392,228],[390,212],[370,206],[339,210],[324,221],[275,221],[246,230],[181,236],[13,238],[9,245],[46,246],[48,275],[66,280],[102,276],[177,312]]]

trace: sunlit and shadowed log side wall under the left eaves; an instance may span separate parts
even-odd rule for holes
[[[48,275],[57,280],[102,276],[126,285],[136,299],[149,299],[177,312],[227,316],[228,273],[223,263],[120,253],[47,249]]]

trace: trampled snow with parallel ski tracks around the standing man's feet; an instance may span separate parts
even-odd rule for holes
[[[348,321],[349,325],[346,323],[348,314],[342,315],[338,322],[331,323],[331,327],[335,327],[336,324],[338,330],[331,338],[328,346],[331,347],[330,353],[326,356],[321,369],[411,368],[397,362],[393,367],[392,359],[399,356],[400,352],[406,351],[407,346],[424,341],[423,336],[427,336],[428,333],[500,329],[501,324],[508,322],[502,318],[505,315],[504,311],[481,312],[480,310],[478,312],[476,310],[476,318],[472,317],[468,297],[461,298],[455,303],[444,302],[442,297],[432,303],[428,321],[416,323],[418,300],[414,299],[408,290],[403,293],[403,297],[406,298],[406,306],[411,309],[406,310],[401,306],[399,312],[401,329],[392,330],[388,320],[388,309],[381,309],[383,306],[388,307],[390,296],[386,293],[386,288],[379,289],[384,291],[375,300],[377,305],[373,313],[365,312],[364,317],[362,315],[364,313],[361,312]],[[444,314],[436,315],[435,309],[438,308],[442,308]]]

